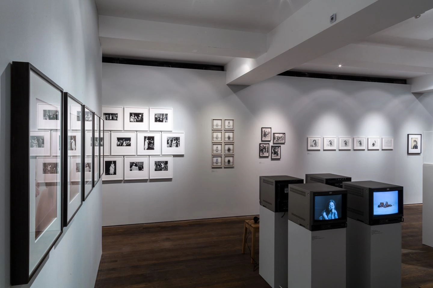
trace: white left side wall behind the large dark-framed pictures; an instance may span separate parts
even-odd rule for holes
[[[0,287],[8,288],[10,191],[13,193],[9,172],[13,161],[9,156],[10,63],[32,63],[100,114],[101,49],[93,0],[2,0],[0,6]],[[18,117],[19,112],[14,113],[13,119]],[[20,287],[94,287],[101,256],[101,190],[98,183],[64,228],[42,269],[29,285]]]

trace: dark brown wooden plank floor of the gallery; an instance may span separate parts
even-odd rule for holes
[[[248,249],[241,254],[245,219],[252,216],[105,227],[95,288],[268,288]],[[421,220],[422,205],[404,206],[403,288],[433,283]]]

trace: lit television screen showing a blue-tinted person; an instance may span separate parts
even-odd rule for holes
[[[314,196],[314,220],[333,220],[342,217],[341,195]]]

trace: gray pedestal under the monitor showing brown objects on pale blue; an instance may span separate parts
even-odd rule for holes
[[[347,287],[401,288],[401,223],[370,226],[347,218]]]

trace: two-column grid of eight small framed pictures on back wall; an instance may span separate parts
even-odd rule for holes
[[[234,167],[235,120],[212,119],[211,167]]]

